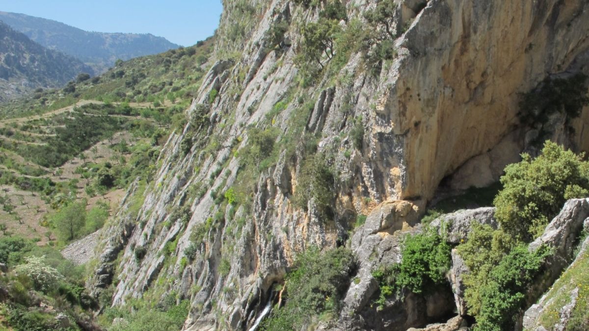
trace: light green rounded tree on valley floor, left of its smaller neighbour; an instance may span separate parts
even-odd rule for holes
[[[75,239],[86,223],[86,200],[70,203],[50,217],[60,240]]]

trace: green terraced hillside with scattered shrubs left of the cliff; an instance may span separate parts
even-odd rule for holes
[[[89,214],[114,211],[131,181],[149,180],[160,145],[186,123],[210,51],[209,40],[118,62],[99,77],[2,104],[0,236],[64,244],[97,230],[104,220],[64,239],[54,223],[75,201]]]

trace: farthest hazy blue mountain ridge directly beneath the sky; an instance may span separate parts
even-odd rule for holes
[[[44,47],[81,59],[97,73],[112,67],[117,59],[127,60],[180,47],[151,34],[88,32],[51,19],[11,12],[0,12],[0,21]]]

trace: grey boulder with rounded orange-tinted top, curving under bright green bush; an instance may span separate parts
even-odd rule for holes
[[[385,201],[372,211],[352,238],[358,256],[356,279],[343,300],[339,327],[342,330],[406,330],[438,320],[452,312],[452,293],[441,286],[436,292],[418,295],[408,291],[391,297],[383,307],[373,302],[378,282],[372,273],[380,266],[401,261],[403,237],[421,231],[417,221],[421,201]]]

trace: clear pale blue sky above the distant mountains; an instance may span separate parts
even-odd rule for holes
[[[219,26],[221,0],[0,0],[0,11],[86,31],[150,33],[191,46]]]

